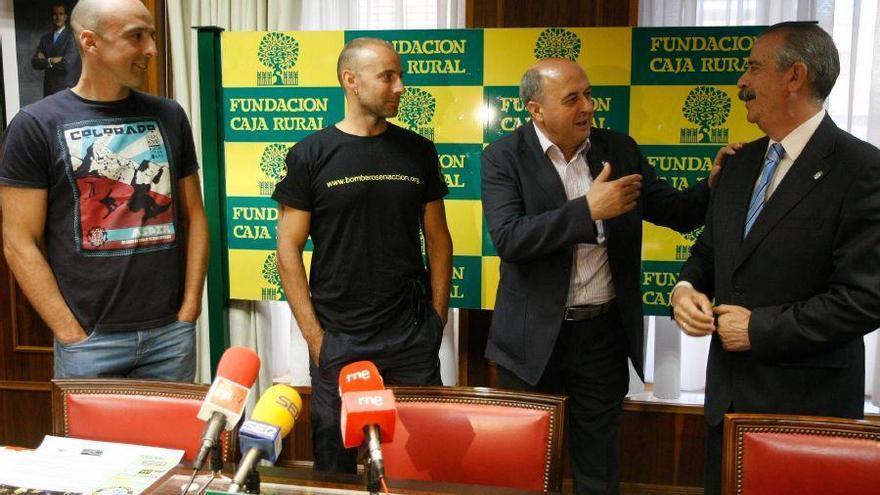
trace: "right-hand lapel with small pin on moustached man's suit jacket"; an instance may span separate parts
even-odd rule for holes
[[[826,115],[782,182],[764,204],[749,235],[743,239],[737,265],[745,261],[773,227],[828,175],[833,163],[825,158],[834,151],[836,131],[837,126],[834,125],[831,117]]]

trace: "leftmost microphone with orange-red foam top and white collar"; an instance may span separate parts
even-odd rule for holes
[[[199,452],[193,461],[194,472],[202,469],[205,458],[220,437],[220,431],[223,428],[232,430],[238,424],[259,371],[260,357],[247,347],[230,347],[220,357],[217,376],[197,415],[207,424],[202,432]]]

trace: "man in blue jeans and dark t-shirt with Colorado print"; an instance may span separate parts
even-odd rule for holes
[[[79,82],[4,136],[6,259],[55,335],[56,378],[192,381],[208,230],[189,122],[134,90],[156,54],[141,2],[81,0],[71,18]]]

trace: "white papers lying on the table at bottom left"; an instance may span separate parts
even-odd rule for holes
[[[0,485],[88,495],[137,495],[182,450],[47,436],[36,450],[0,448]]]

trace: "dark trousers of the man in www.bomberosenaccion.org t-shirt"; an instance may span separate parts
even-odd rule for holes
[[[357,472],[358,449],[343,446],[339,429],[339,371],[346,364],[372,361],[385,385],[441,385],[443,326],[430,303],[419,313],[421,317],[403,318],[375,332],[350,335],[325,329],[320,367],[309,360],[315,471]]]

